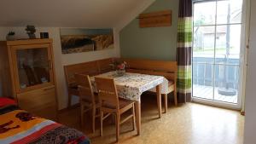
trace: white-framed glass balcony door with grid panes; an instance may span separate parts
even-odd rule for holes
[[[193,3],[193,101],[241,107],[242,2]]]

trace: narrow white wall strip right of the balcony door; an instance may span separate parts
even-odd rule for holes
[[[256,142],[256,1],[251,1],[250,46],[248,49],[244,143]]]

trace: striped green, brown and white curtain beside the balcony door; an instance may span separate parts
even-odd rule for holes
[[[177,24],[177,97],[191,101],[192,0],[179,0]]]

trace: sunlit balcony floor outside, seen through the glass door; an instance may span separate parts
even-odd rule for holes
[[[213,87],[196,85],[193,84],[193,96],[203,98],[203,99],[214,99],[215,101],[224,101],[230,103],[237,103],[237,95],[226,96],[218,94],[218,88],[214,89],[214,98],[213,98]]]

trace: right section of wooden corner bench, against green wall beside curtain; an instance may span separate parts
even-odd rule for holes
[[[174,103],[177,106],[177,61],[164,60],[139,60],[122,59],[127,62],[126,72],[136,72],[150,75],[159,75],[165,77],[168,81],[168,94],[174,93]],[[167,110],[167,94],[165,97],[165,109]]]

